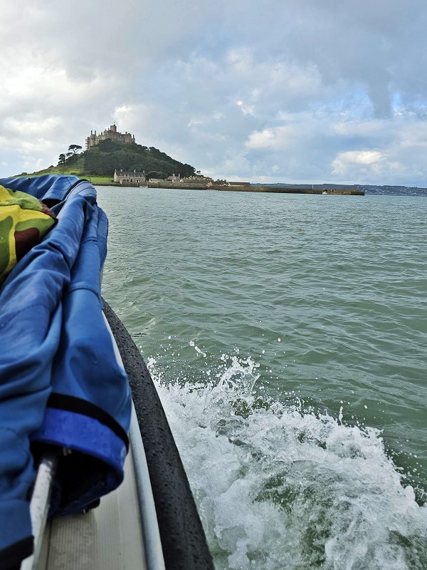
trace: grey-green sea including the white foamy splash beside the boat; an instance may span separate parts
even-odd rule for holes
[[[427,197],[98,187],[217,570],[427,569]]]

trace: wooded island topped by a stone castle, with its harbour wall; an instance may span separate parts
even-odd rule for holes
[[[46,174],[75,175],[95,185],[134,186],[162,189],[220,190],[228,192],[275,192],[281,194],[321,194],[363,196],[359,186],[331,185],[258,185],[238,180],[214,180],[195,167],[174,160],[165,152],[139,145],[135,135],[120,133],[115,124],[102,133],[90,131],[85,150],[70,145],[58,157],[58,164],[19,176]]]

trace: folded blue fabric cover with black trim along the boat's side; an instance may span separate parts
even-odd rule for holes
[[[102,314],[107,217],[93,185],[47,175],[0,179],[46,201],[58,223],[0,292],[0,568],[32,549],[33,454],[61,455],[52,514],[81,512],[123,478],[131,398]],[[19,553],[19,554],[17,554]]]

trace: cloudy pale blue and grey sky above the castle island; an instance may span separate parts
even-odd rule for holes
[[[427,187],[425,0],[0,9],[0,176],[115,122],[214,178]]]

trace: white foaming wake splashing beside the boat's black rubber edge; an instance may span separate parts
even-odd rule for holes
[[[148,366],[218,570],[427,568],[427,506],[379,430],[257,395],[250,358],[184,385]]]

